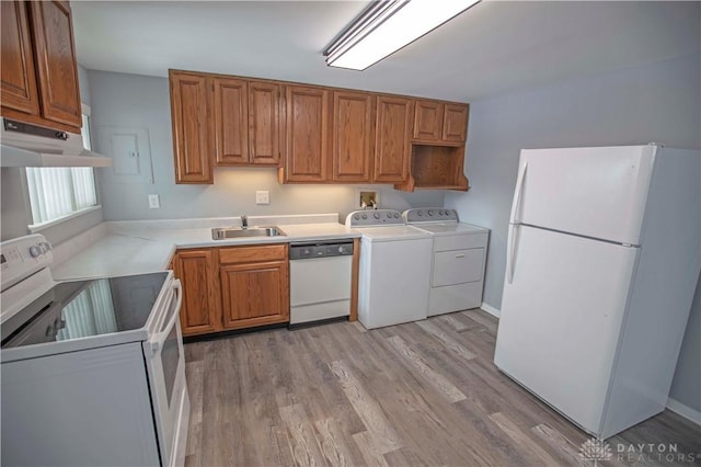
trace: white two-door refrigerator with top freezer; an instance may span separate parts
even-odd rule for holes
[[[600,438],[667,403],[701,265],[700,160],[521,151],[494,363]]]

